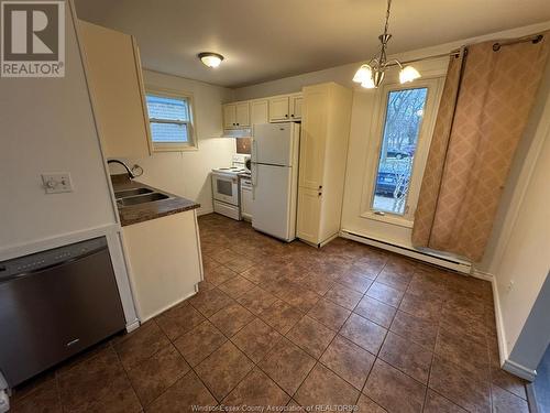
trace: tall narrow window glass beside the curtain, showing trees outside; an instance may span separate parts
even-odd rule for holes
[[[405,215],[428,88],[389,90],[372,208]]]

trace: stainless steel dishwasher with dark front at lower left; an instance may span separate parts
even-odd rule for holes
[[[0,262],[0,372],[10,387],[124,326],[105,237]]]

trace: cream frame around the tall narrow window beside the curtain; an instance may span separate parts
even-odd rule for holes
[[[392,224],[399,227],[411,228],[414,224],[416,205],[418,203],[418,195],[420,192],[421,177],[424,175],[424,170],[426,166],[426,161],[428,157],[428,151],[431,143],[433,127],[436,123],[437,112],[439,109],[439,100],[441,98],[441,90],[444,78],[442,77],[426,77],[413,83],[399,84],[399,83],[388,83],[383,85],[376,90],[376,104],[373,113],[374,122],[371,129],[371,143],[370,153],[371,164],[370,167],[365,170],[364,177],[364,192],[362,195],[362,213],[361,217],[382,221],[385,224]],[[422,119],[422,124],[420,127],[417,150],[415,152],[415,159],[413,161],[411,167],[411,185],[409,186],[406,210],[404,215],[393,214],[384,211],[384,215],[378,215],[377,210],[373,208],[374,203],[374,192],[376,186],[376,176],[378,171],[380,162],[380,151],[382,148],[382,140],[384,133],[384,126],[386,121],[387,112],[387,101],[391,91],[404,90],[404,89],[417,89],[427,88],[427,100],[425,106],[425,113]],[[414,207],[411,207],[414,205]]]

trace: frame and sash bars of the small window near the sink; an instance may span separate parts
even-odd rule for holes
[[[155,96],[160,98],[175,98],[184,99],[187,101],[187,107],[189,109],[189,120],[166,120],[156,119],[148,117],[148,106],[147,96]],[[198,139],[196,134],[197,121],[195,115],[195,102],[193,93],[179,91],[174,89],[167,89],[164,87],[157,87],[147,85],[145,86],[145,109],[147,110],[147,128],[150,130],[150,143],[153,152],[185,152],[185,151],[197,151],[198,150]],[[188,142],[155,142],[153,140],[153,131],[151,123],[174,123],[174,124],[187,124],[187,137]]]

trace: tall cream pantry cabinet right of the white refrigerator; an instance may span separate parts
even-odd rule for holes
[[[340,230],[352,91],[327,83],[302,94],[297,235],[322,246]]]

